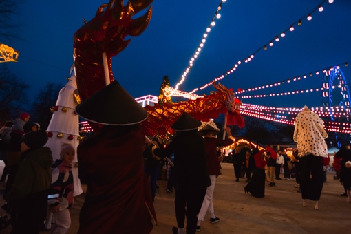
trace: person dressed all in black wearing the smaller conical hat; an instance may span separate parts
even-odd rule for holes
[[[166,148],[153,147],[153,153],[169,157],[174,153],[175,216],[178,227],[173,234],[194,234],[206,189],[211,185],[206,169],[205,141],[198,134],[201,122],[187,113],[175,120],[171,128],[176,136]],[[185,218],[187,226],[184,228]]]

